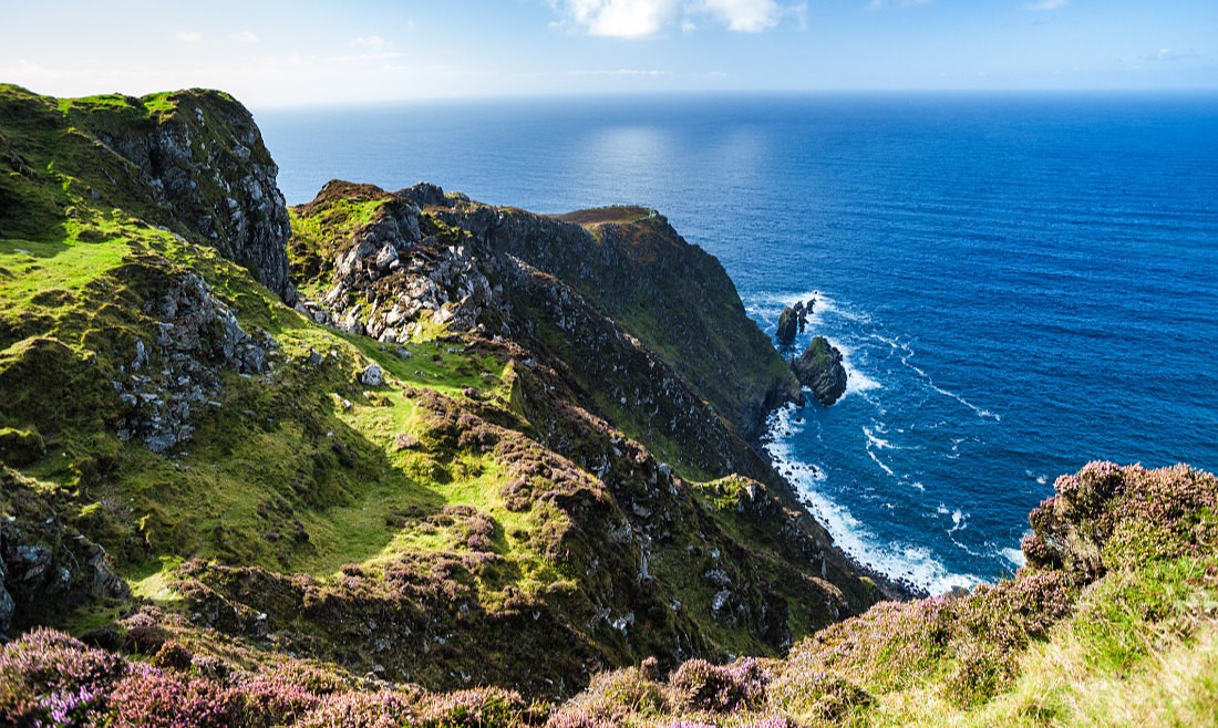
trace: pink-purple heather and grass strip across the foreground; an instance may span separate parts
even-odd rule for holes
[[[38,629],[0,653],[21,724],[1209,726],[1218,715],[1218,480],[1094,463],[1033,513],[1029,565],[970,594],[885,603],[782,660],[654,660],[563,704],[484,687],[430,693],[286,656],[192,651],[135,622],[145,659]],[[214,637],[214,635],[213,635]],[[197,638],[196,638],[197,639]]]

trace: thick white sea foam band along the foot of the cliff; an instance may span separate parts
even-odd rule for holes
[[[765,449],[780,471],[789,470],[794,474],[788,476],[792,485],[812,515],[833,536],[838,548],[864,566],[892,578],[905,579],[932,594],[943,594],[956,587],[967,589],[980,583],[980,579],[973,576],[949,571],[922,547],[878,538],[845,506],[829,498],[823,489],[826,472],[793,459],[789,439],[805,425],[795,422],[795,416],[797,410],[792,405],[781,408],[770,416],[770,437]]]

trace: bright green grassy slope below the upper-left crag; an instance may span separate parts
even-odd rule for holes
[[[0,343],[6,347],[0,352],[0,379],[6,392],[21,392],[16,399],[6,397],[0,414],[5,426],[34,429],[46,438],[49,454],[28,472],[50,488],[72,489],[82,513],[106,521],[101,541],[129,576],[146,573],[149,564],[162,558],[173,562],[181,556],[320,576],[406,544],[448,548],[456,537],[442,528],[420,538],[386,527],[395,514],[412,508],[469,504],[509,527],[521,520],[486,495],[502,476],[493,466],[466,464],[464,471],[480,471],[469,477],[449,469],[452,481],[437,488],[434,453],[393,447],[397,433],[425,437],[428,425],[415,404],[401,388],[365,392],[356,382],[356,374],[375,360],[396,385],[457,397],[476,386],[484,397],[503,398],[502,360],[449,353],[438,342],[404,347],[407,359],[313,325],[209,248],[117,208],[99,209],[88,194],[93,180],[84,175],[95,173],[91,167],[105,150],[77,139],[82,133],[69,125],[72,114],[88,110],[125,117],[143,105],[146,116],[140,123],[155,123],[173,113],[166,95],[56,105],[5,86],[0,101],[39,108],[35,128],[6,124],[0,130],[10,159],[18,158],[28,170],[4,170],[4,198],[37,202],[6,207],[0,218]],[[138,190],[128,198],[125,207],[141,207]],[[275,338],[278,366],[272,381],[225,374],[222,407],[208,409],[183,452],[162,458],[107,432],[102,420],[113,415],[116,404],[102,385],[121,376],[136,338],[155,338],[155,320],[138,313],[147,295],[156,293],[145,289],[155,289],[160,273],[185,270],[202,273],[220,298],[240,310],[245,327]],[[32,357],[41,349],[32,345],[45,338],[63,343],[73,366],[91,360],[89,366],[100,375],[84,375],[91,386],[76,392],[73,405],[51,402],[60,387],[23,379],[62,376],[22,365],[38,363]],[[325,354],[322,365],[307,363],[311,349]],[[97,461],[102,475],[94,466]],[[251,482],[258,487],[251,488]],[[286,505],[274,506],[276,499]],[[110,506],[113,502],[122,508]],[[307,542],[291,538],[297,520]],[[268,538],[273,532],[279,538]],[[514,558],[519,549],[508,550]],[[520,558],[532,561],[536,554]]]

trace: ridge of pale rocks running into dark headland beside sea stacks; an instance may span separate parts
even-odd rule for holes
[[[335,247],[322,258],[340,265],[306,251],[295,264],[297,274],[326,281],[315,303],[328,310],[318,317],[341,327],[382,341],[408,337],[406,326],[428,319],[464,331],[481,323],[496,332],[503,317],[484,313],[520,302],[492,279],[524,264],[637,336],[745,438],[761,435],[775,407],[803,401],[719,261],[655,211],[615,207],[555,219],[446,195],[431,184],[389,194],[342,181],[329,183],[300,211],[315,217],[345,200],[379,205],[379,213],[358,231],[334,231]],[[428,230],[420,229],[423,209],[432,220]],[[407,250],[409,269],[393,268],[393,256]],[[368,306],[374,298],[375,309]]]

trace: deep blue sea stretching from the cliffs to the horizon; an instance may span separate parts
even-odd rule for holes
[[[1089,460],[1218,469],[1218,96],[806,95],[256,113],[290,203],[418,180],[660,209],[750,315],[816,298],[831,408],[770,454],[860,561],[932,592],[1019,564]]]

